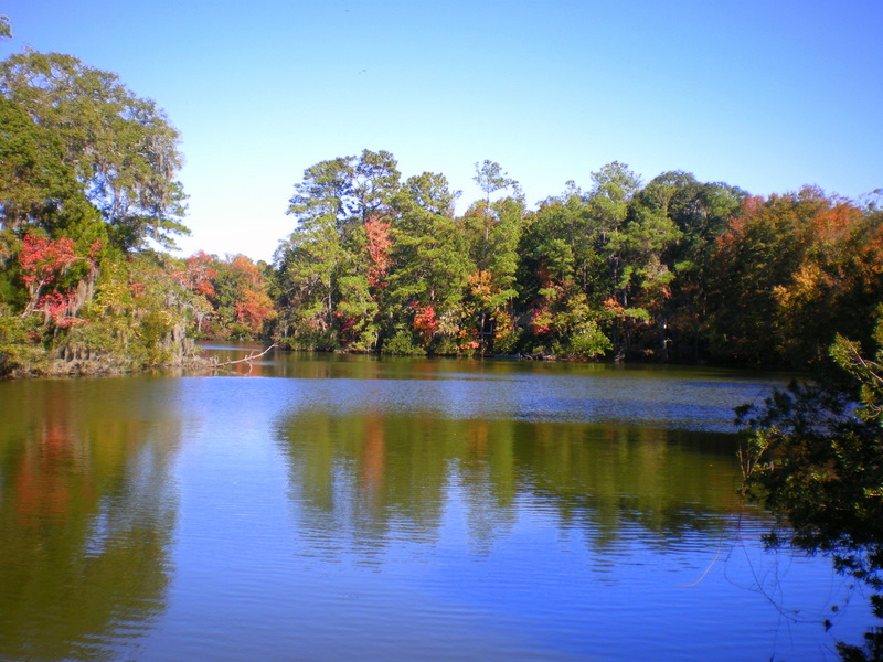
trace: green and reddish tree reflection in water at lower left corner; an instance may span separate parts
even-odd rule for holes
[[[180,429],[145,385],[6,392],[21,401],[0,417],[0,659],[106,658],[164,610]]]

